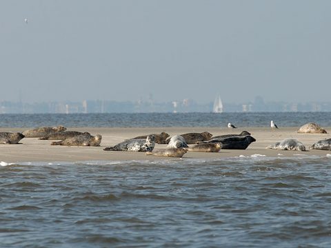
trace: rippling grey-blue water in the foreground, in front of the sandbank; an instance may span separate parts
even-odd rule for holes
[[[0,247],[331,247],[331,157],[0,167]]]

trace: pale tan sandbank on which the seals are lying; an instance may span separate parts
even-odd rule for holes
[[[0,132],[23,132],[28,128],[0,128]],[[252,156],[261,154],[270,157],[292,157],[298,154],[302,155],[317,155],[326,156],[331,154],[331,151],[308,150],[307,152],[300,151],[283,151],[276,149],[265,149],[268,145],[272,145],[284,138],[297,138],[307,148],[313,143],[323,139],[331,138],[330,134],[298,134],[296,127],[284,127],[279,130],[270,130],[263,127],[247,127],[228,130],[228,128],[219,127],[81,127],[68,128],[68,130],[76,130],[81,132],[90,132],[91,134],[101,134],[102,141],[100,147],[68,147],[50,145],[52,141],[41,141],[38,138],[23,138],[22,144],[17,145],[0,145],[0,161],[6,163],[22,163],[22,162],[77,162],[77,161],[132,161],[132,160],[160,160],[160,159],[181,159],[181,158],[165,158],[159,156],[147,156],[145,152],[109,152],[103,151],[104,147],[116,145],[117,143],[135,136],[167,132],[170,136],[175,134],[185,134],[188,132],[205,132],[208,131],[213,136],[223,134],[239,134],[243,130],[247,130],[256,138],[256,142],[250,144],[245,150],[221,149],[218,153],[211,152],[188,152],[184,154],[185,158],[231,158],[236,156]],[[331,130],[326,128],[326,130]],[[166,145],[156,144],[154,149],[165,148]],[[282,155],[279,155],[282,154]]]

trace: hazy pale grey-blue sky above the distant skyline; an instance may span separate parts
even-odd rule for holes
[[[328,0],[1,0],[0,101],[330,101],[330,10]]]

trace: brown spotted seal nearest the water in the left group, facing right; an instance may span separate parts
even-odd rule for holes
[[[102,136],[97,134],[81,134],[70,138],[65,138],[63,141],[54,141],[50,145],[77,145],[77,146],[99,146]]]

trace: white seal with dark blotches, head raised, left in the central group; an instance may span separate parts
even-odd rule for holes
[[[152,152],[155,146],[154,135],[148,135],[146,139],[137,138],[123,141],[113,147],[106,147],[104,151],[129,151],[129,152]]]

